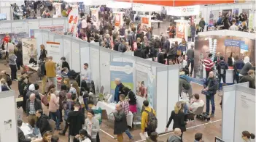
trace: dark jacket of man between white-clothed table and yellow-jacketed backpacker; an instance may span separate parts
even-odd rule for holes
[[[114,135],[122,134],[127,130],[127,120],[125,112],[114,112]]]

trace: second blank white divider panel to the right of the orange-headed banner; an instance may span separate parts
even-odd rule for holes
[[[80,46],[77,41],[71,41],[71,69],[80,72]]]

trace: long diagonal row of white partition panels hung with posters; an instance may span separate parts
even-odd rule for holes
[[[84,75],[83,64],[88,63],[91,78],[94,81],[96,93],[102,92],[114,95],[115,78],[131,88],[137,96],[137,107],[141,109],[144,99],[150,101],[158,116],[158,133],[164,133],[168,117],[174,109],[179,96],[179,64],[166,66],[158,62],[134,57],[98,46],[98,43],[88,43],[67,35],[58,35],[47,30],[34,30],[36,47],[46,46],[48,56],[53,56],[55,62],[66,57],[69,66]],[[56,46],[58,43],[58,46]],[[141,90],[144,90],[141,92]],[[112,100],[109,100],[112,102]],[[112,104],[106,102],[108,110]],[[168,106],[168,107],[166,107]],[[104,109],[104,108],[102,108]],[[109,112],[109,111],[108,111]],[[171,128],[171,127],[170,127]]]

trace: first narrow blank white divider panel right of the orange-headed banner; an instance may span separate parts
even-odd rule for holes
[[[63,36],[63,57],[66,57],[66,62],[71,64],[71,38]]]

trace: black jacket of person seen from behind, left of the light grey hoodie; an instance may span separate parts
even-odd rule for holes
[[[80,111],[72,111],[68,114],[69,135],[76,136],[82,125],[85,124],[85,116]]]

